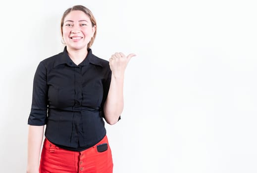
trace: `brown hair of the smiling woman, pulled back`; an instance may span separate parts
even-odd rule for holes
[[[79,10],[79,11],[83,11],[85,14],[87,14],[91,20],[91,24],[92,27],[97,26],[97,21],[93,15],[93,13],[85,6],[83,5],[74,5],[71,8],[66,9],[66,11],[64,11],[62,18],[61,18],[61,36],[63,36],[63,32],[62,32],[62,27],[63,27],[63,23],[64,23],[64,18],[71,12],[71,11],[75,11],[75,10]],[[97,27],[96,27],[96,31],[94,33],[94,36],[91,38],[91,41],[88,43],[88,48],[92,46],[92,44],[95,41],[97,35]]]

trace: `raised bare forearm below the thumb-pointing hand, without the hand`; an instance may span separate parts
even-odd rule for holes
[[[123,83],[124,75],[119,77],[111,75],[109,92],[103,108],[105,120],[110,125],[113,125],[118,121],[118,118],[123,111]]]

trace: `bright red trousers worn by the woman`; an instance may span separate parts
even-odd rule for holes
[[[107,143],[108,149],[97,150],[97,145]],[[107,136],[95,146],[84,151],[59,148],[45,138],[40,161],[40,173],[112,173],[112,157]]]

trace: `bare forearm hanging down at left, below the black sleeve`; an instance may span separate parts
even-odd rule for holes
[[[44,126],[29,126],[27,173],[38,172]]]

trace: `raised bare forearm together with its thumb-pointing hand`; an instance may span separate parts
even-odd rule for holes
[[[105,120],[108,124],[113,125],[118,121],[123,111],[123,83],[124,73],[129,60],[136,56],[131,53],[127,57],[123,53],[115,53],[109,59],[111,69],[111,82],[106,101],[103,106]]]

